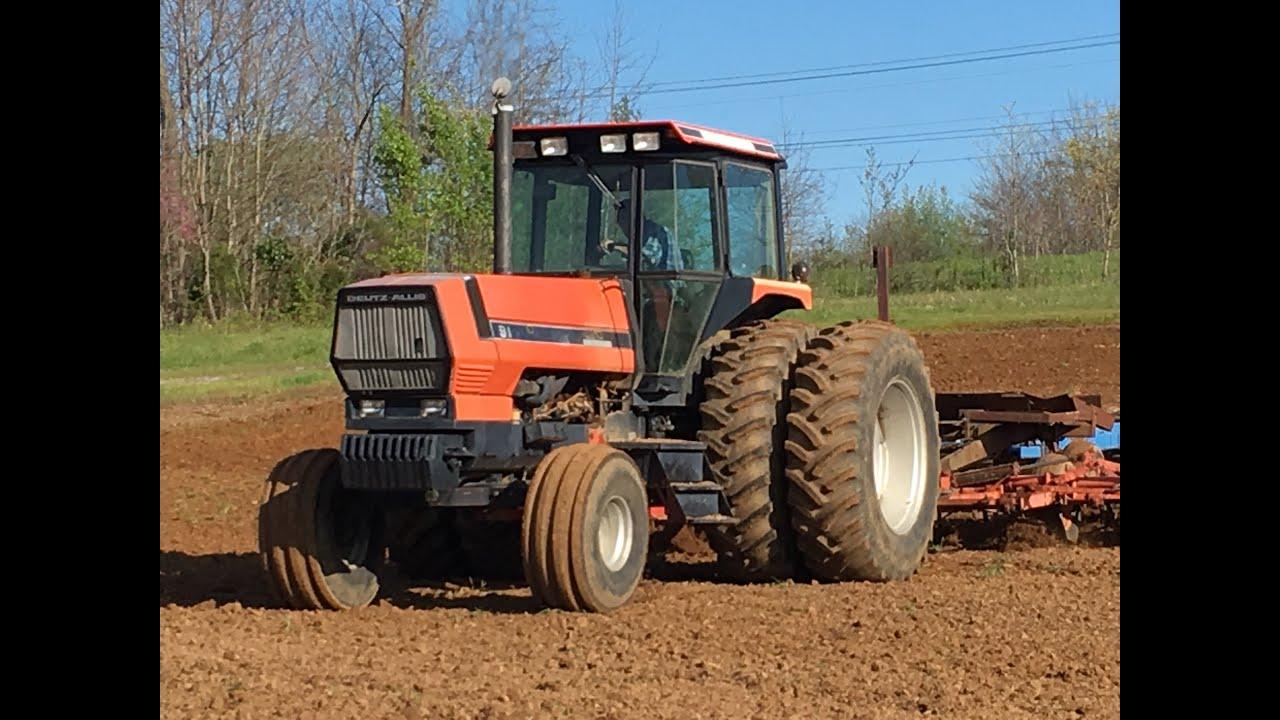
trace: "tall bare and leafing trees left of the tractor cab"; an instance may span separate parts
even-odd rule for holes
[[[488,265],[493,79],[517,123],[632,119],[653,56],[621,4],[575,54],[552,5],[163,0],[161,327]]]

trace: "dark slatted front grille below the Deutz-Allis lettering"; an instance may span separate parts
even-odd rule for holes
[[[333,360],[347,391],[442,391],[448,350],[433,295],[379,300],[339,297]]]

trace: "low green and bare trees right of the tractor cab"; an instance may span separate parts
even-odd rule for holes
[[[879,245],[895,263],[984,258],[1014,287],[1027,258],[1097,252],[1107,278],[1120,249],[1120,106],[1076,102],[1044,123],[1007,113],[975,160],[968,197],[911,187],[913,163],[882,163],[872,147],[859,177],[861,217],[840,228],[810,222],[792,233],[792,251],[815,268],[865,268]],[[809,202],[820,204],[820,176],[806,158],[792,167],[817,188]]]

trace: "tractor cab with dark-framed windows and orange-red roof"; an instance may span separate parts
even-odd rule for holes
[[[512,156],[508,272],[618,278],[641,401],[684,402],[698,347],[744,315],[808,306],[783,282],[769,141],[675,120],[516,127]]]

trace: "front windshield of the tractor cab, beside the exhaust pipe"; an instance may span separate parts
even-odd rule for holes
[[[516,165],[511,188],[515,272],[627,269],[632,168],[602,164],[590,169],[613,197],[580,165]]]

